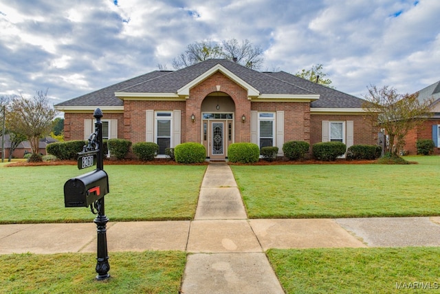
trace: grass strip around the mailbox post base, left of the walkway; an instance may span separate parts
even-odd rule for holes
[[[0,293],[179,293],[186,253],[111,253],[110,278],[96,281],[96,255],[0,255]]]

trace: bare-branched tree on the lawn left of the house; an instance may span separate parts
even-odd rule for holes
[[[38,154],[39,140],[49,134],[52,120],[58,114],[49,103],[47,91],[38,91],[30,99],[20,96],[10,103],[8,129],[23,134],[28,139],[33,154]]]

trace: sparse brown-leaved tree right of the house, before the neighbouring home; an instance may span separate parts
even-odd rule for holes
[[[423,124],[432,116],[430,105],[432,99],[419,101],[418,93],[399,94],[393,87],[367,87],[369,93],[364,96],[366,102],[362,105],[366,118],[375,127],[385,130],[389,145],[387,152],[398,156],[405,145],[405,136],[410,129]]]

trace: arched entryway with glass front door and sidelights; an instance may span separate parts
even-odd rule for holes
[[[223,92],[213,92],[201,103],[201,140],[210,160],[225,160],[234,143],[235,103]]]

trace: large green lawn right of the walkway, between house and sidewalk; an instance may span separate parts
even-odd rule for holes
[[[413,165],[232,165],[249,218],[439,216],[440,156]]]

